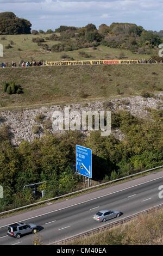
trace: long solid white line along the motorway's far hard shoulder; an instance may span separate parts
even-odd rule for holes
[[[115,191],[115,192],[112,192],[112,193],[109,193],[109,194],[104,194],[103,196],[100,196],[100,197],[92,198],[92,199],[89,199],[89,200],[86,200],[86,201],[83,201],[83,202],[80,202],[80,203],[77,203],[77,204],[73,204],[73,205],[66,206],[66,207],[64,207],[64,208],[60,208],[60,209],[58,209],[58,210],[46,212],[45,214],[40,214],[40,215],[37,215],[37,216],[34,216],[34,217],[26,218],[25,220],[15,221],[15,222],[28,221],[28,220],[31,220],[31,219],[33,219],[33,218],[41,217],[41,216],[44,216],[44,215],[47,215],[47,214],[52,214],[53,212],[56,212],[56,211],[65,210],[65,209],[67,209],[67,208],[71,208],[71,207],[76,206],[76,205],[79,205],[79,204],[84,204],[84,203],[90,202],[90,201],[92,201],[92,200],[96,200],[96,199],[99,199],[99,198],[102,198],[102,197],[110,196],[110,194],[115,194],[115,193],[118,193],[118,192],[121,192],[121,191],[124,191],[124,190],[129,190],[129,188],[137,187],[137,186],[140,186],[140,185],[143,185],[143,184],[152,182],[152,181],[154,181],[154,180],[159,180],[159,179],[162,179],[162,178],[163,178],[163,176],[161,176],[161,177],[159,177],[159,178],[156,178],[156,179],[153,179],[153,180],[149,180],[149,181],[146,181],[146,182],[142,182],[142,183],[140,183],[140,184],[137,184],[137,185],[134,185],[134,186],[131,186],[131,187],[123,188],[123,190],[118,190],[118,191]],[[8,225],[11,225],[11,224],[12,224],[12,223],[7,224],[7,225],[4,225],[4,226],[2,226],[2,227],[0,227],[0,228],[7,227]]]

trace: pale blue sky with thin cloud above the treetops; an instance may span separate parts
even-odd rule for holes
[[[147,30],[163,30],[163,0],[0,0],[0,12],[12,11],[32,23],[32,29],[60,25],[129,22]]]

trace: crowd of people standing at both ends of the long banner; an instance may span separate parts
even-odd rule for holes
[[[138,60],[139,63],[163,63],[162,60],[160,60],[160,62],[157,62],[156,60],[149,58],[149,59],[139,59]],[[0,68],[7,68],[11,66],[12,68],[29,68],[31,66],[46,66],[46,62],[45,61],[40,61],[40,62],[36,62],[36,61],[30,61],[30,62],[12,62],[11,64],[7,63],[7,62],[0,62]]]

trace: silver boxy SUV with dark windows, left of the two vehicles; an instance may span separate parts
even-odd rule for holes
[[[11,224],[7,227],[7,234],[12,237],[20,238],[22,235],[29,233],[36,233],[37,226],[33,223],[25,224],[23,222],[18,222]]]

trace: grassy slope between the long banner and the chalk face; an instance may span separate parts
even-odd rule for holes
[[[76,103],[141,95],[163,89],[161,64],[119,66],[52,66],[0,70],[0,106],[27,107]],[[2,92],[2,82],[14,80],[23,94]]]

